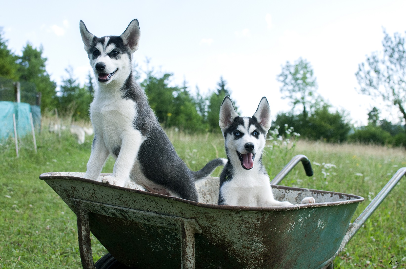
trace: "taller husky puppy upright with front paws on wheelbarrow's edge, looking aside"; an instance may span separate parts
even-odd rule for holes
[[[80,21],[80,34],[99,90],[90,105],[94,127],[87,179],[97,180],[109,154],[113,173],[102,182],[197,201],[194,181],[210,175],[225,159],[215,159],[200,171],[190,171],[162,130],[144,91],[132,75],[132,55],[138,49],[140,27],[134,19],[120,36],[96,37]]]

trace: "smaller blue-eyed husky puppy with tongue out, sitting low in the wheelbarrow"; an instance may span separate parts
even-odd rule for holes
[[[272,194],[269,176],[263,167],[262,151],[271,126],[270,107],[265,97],[253,117],[239,117],[226,96],[220,107],[221,131],[228,162],[220,175],[219,205],[275,207],[292,205],[279,202]],[[314,203],[306,197],[303,203]]]

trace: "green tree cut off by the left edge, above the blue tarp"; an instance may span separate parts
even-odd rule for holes
[[[0,27],[0,76],[18,80],[17,56],[7,47],[7,40],[3,38],[3,28]]]

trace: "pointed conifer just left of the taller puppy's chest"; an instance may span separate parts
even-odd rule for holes
[[[67,77],[63,78],[60,92],[57,94],[58,110],[61,113],[71,113],[75,119],[89,118],[89,105],[92,95],[89,90],[80,87],[79,82],[73,77],[73,68],[65,69]]]

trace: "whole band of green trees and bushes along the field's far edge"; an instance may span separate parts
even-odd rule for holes
[[[397,107],[406,120],[404,37],[397,33],[392,37],[384,31],[382,45],[382,51],[372,53],[365,63],[359,64],[356,72],[358,92]],[[8,49],[0,31],[0,75],[35,83],[37,91],[42,92],[42,111],[57,108],[60,113],[76,119],[88,119],[95,88],[92,75],[89,73],[87,82],[81,86],[73,69],[68,67],[60,90],[56,91],[56,83],[45,70],[47,59],[42,56],[42,51],[42,47],[34,48],[27,43],[21,56],[15,55]],[[177,127],[186,132],[220,132],[220,105],[226,95],[231,95],[223,77],[214,90],[201,94],[197,87],[192,92],[186,81],[183,85],[170,86],[171,73],[147,70],[143,73],[145,79],[140,80],[141,73],[134,65],[134,75],[162,126]],[[271,130],[278,128],[279,133],[285,133],[287,124],[308,139],[406,145],[404,126],[380,119],[380,111],[376,108],[369,112],[367,126],[354,128],[346,111],[335,109],[317,93],[317,79],[307,60],[299,58],[293,63],[286,62],[276,79],[281,83],[280,91],[283,98],[289,100],[291,109],[276,115]]]

